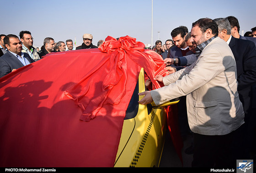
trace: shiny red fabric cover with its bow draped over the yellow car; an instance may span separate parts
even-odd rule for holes
[[[50,53],[0,78],[0,166],[114,166],[141,67],[167,74],[143,43],[107,37],[100,50]]]

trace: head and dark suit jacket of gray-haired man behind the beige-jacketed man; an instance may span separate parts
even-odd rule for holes
[[[256,46],[252,41],[231,36],[231,27],[226,18],[214,19],[219,27],[219,37],[229,44],[235,56],[238,92],[243,103],[245,122],[251,107],[251,86],[256,83]]]

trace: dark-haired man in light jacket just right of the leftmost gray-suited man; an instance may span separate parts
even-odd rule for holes
[[[36,48],[33,47],[33,37],[30,31],[21,31],[20,38],[22,42],[22,52],[27,53],[33,60],[37,61],[40,56]]]

